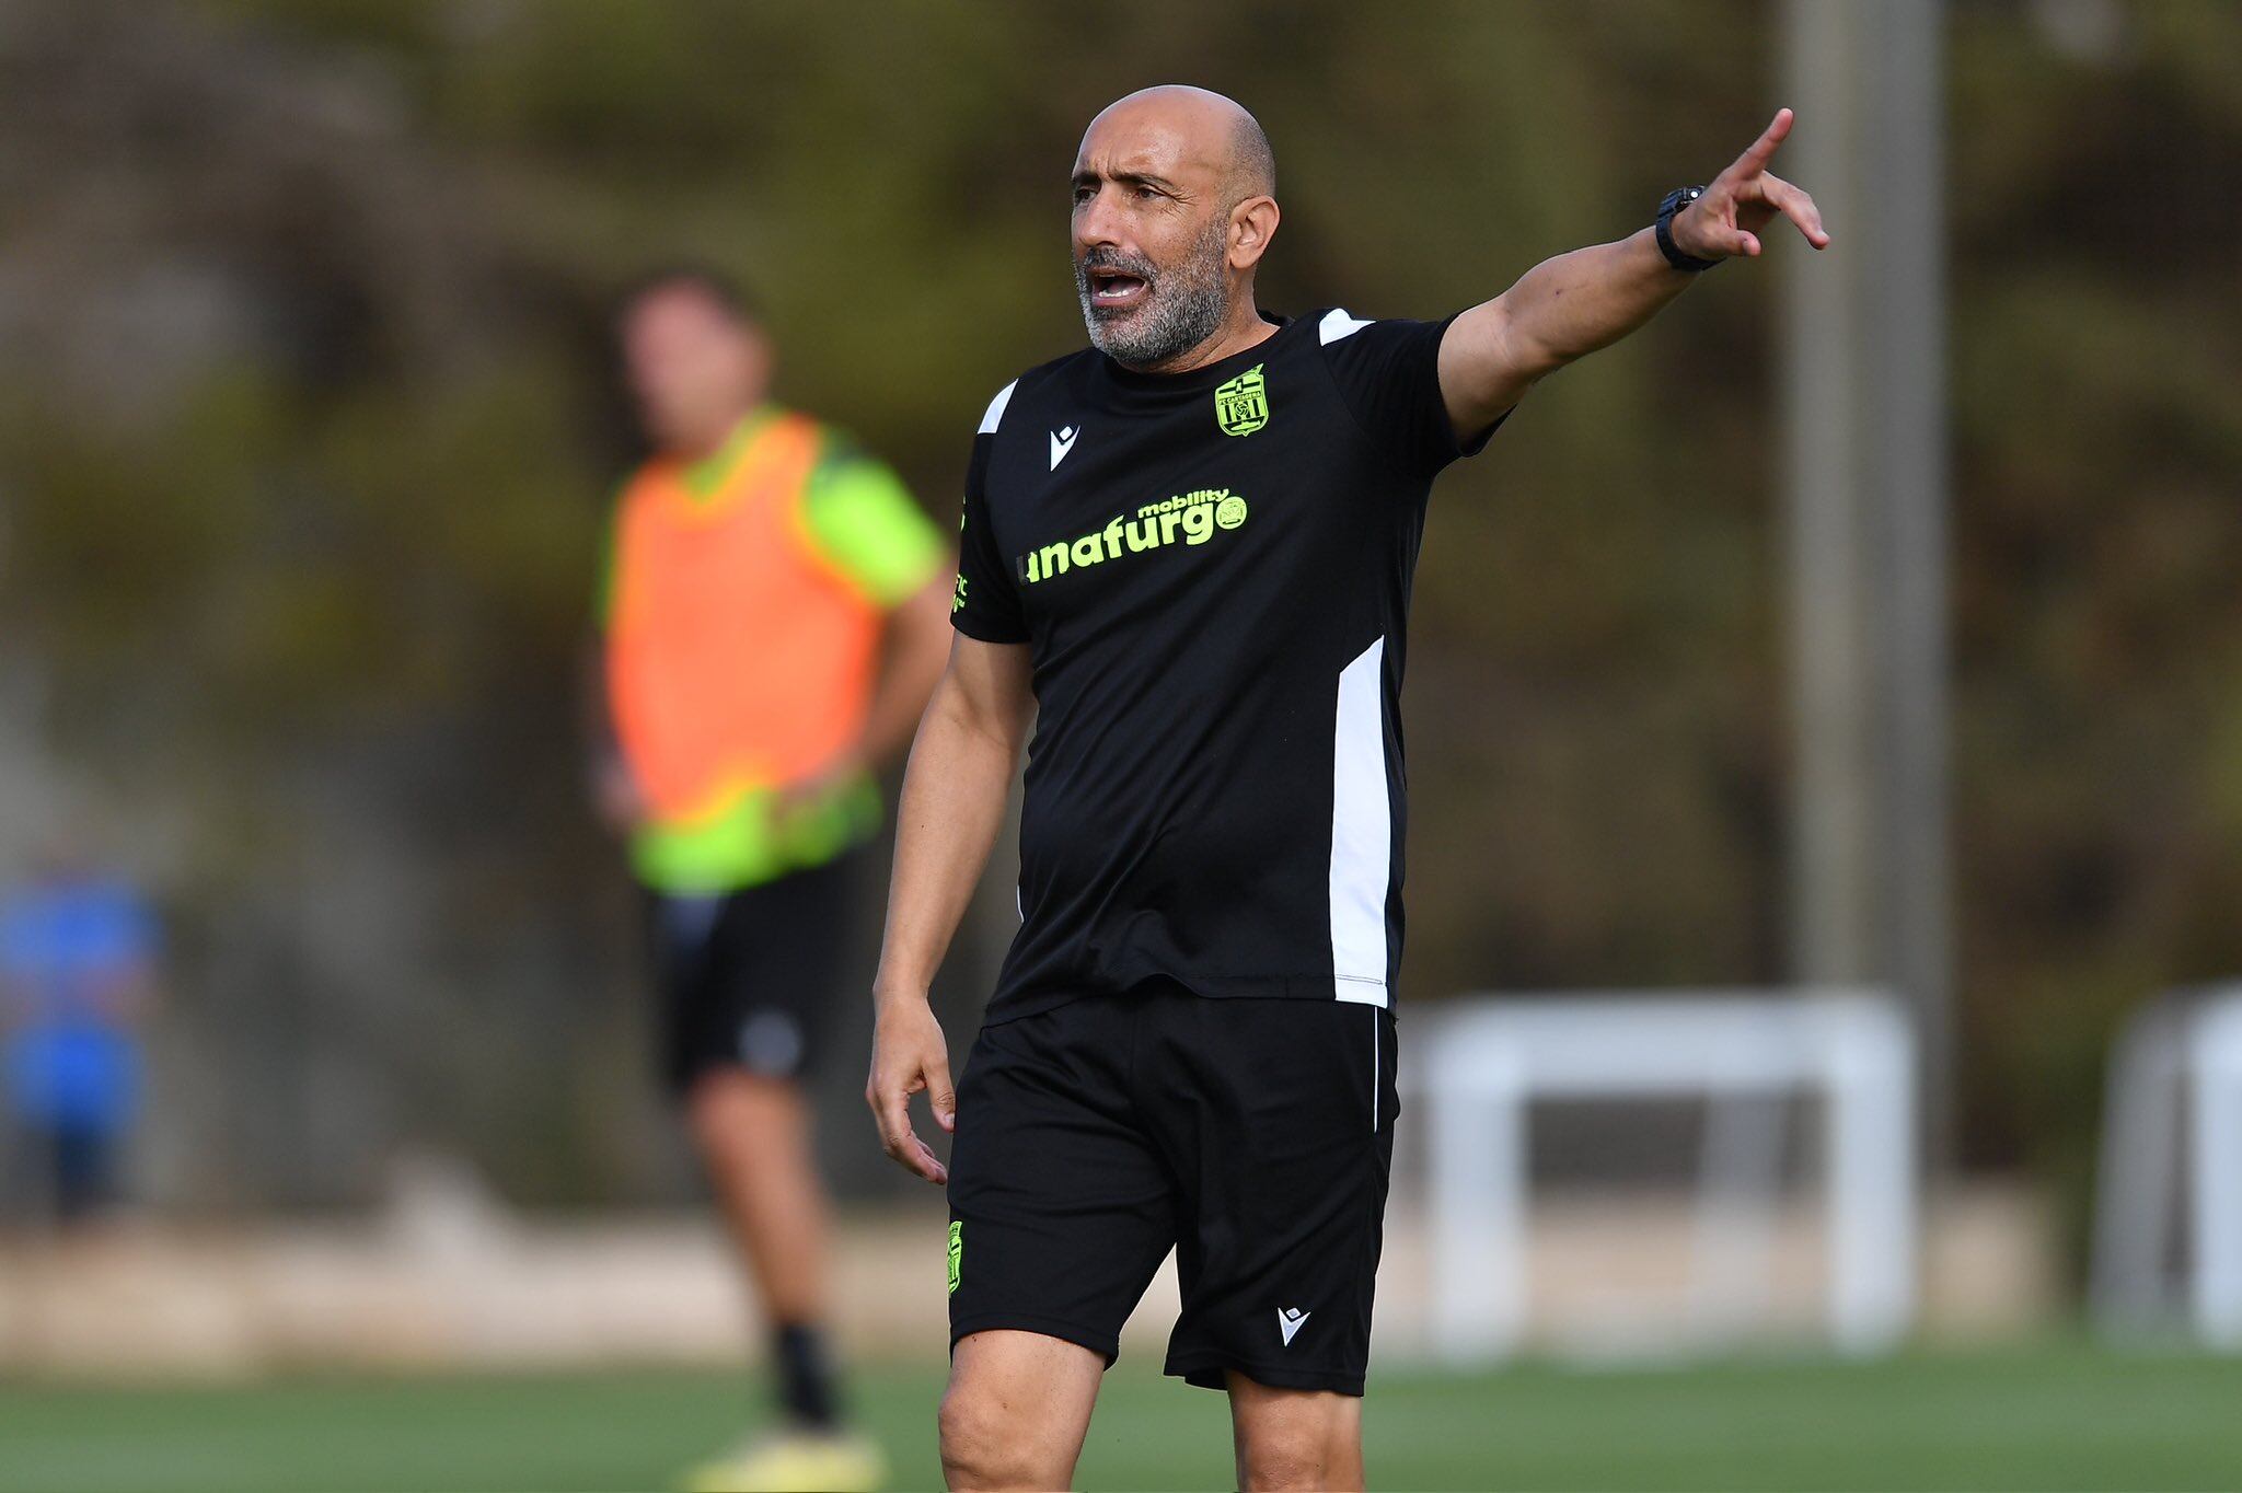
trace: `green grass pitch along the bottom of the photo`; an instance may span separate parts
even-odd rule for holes
[[[854,1397],[897,1486],[937,1486],[935,1370]],[[659,1489],[740,1430],[713,1374],[285,1381],[222,1390],[0,1388],[11,1493]],[[2242,1361],[2081,1345],[1870,1365],[1379,1374],[1381,1489],[2238,1489]],[[1108,1376],[1078,1484],[1231,1486],[1222,1399]]]

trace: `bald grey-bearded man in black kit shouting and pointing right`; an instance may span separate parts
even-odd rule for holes
[[[948,1184],[953,1489],[1060,1489],[1170,1249],[1168,1374],[1244,1489],[1359,1489],[1401,957],[1401,659],[1433,477],[1778,217],[1789,110],[1652,226],[1446,321],[1267,316],[1269,143],[1155,87],[1074,159],[1090,350],[966,475],[948,668],[904,782],[865,1098]],[[953,1092],[926,1004],[1036,722],[1020,933]],[[926,1092],[944,1168],[912,1134]]]

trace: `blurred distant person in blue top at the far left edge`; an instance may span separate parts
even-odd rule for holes
[[[70,843],[0,901],[7,1105],[36,1204],[65,1231],[119,1199],[139,1116],[141,1038],[157,1000],[157,919]]]

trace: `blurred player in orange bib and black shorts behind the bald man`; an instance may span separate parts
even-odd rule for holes
[[[825,1343],[827,1199],[800,1089],[841,998],[874,771],[948,652],[948,545],[897,475],[767,401],[771,343],[706,269],[619,307],[650,460],[601,599],[603,816],[646,890],[664,1076],[760,1293],[782,1421],[697,1489],[863,1489]]]

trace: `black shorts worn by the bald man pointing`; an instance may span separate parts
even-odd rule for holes
[[[984,1027],[951,1150],[951,1345],[1011,1327],[1112,1363],[1175,1249],[1168,1374],[1363,1392],[1395,1022],[1164,986]]]

